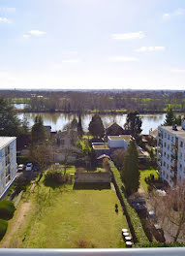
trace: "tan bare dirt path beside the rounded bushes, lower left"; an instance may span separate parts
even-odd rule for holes
[[[20,225],[22,225],[24,223],[24,219],[25,216],[27,214],[27,212],[30,210],[31,208],[31,202],[25,202],[22,203],[20,205],[20,207],[18,207],[16,210],[16,214],[13,217],[13,221],[10,225],[10,229],[8,228],[8,232],[5,235],[5,238],[3,239],[2,243],[1,243],[1,247],[2,248],[10,248],[11,247],[11,240],[13,238],[13,236],[15,235],[16,231],[18,230],[18,228],[20,227]]]

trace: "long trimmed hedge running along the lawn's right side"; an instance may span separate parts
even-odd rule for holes
[[[131,230],[131,233],[133,235],[133,240],[135,242],[143,243],[143,242],[149,242],[147,239],[144,230],[142,228],[142,224],[139,219],[139,215],[137,211],[132,208],[127,200],[125,189],[123,186],[123,182],[120,177],[119,171],[115,168],[113,162],[109,161],[110,170],[112,173],[113,183],[115,186],[115,190],[117,193],[117,196],[120,200],[120,203],[124,209],[124,213],[127,218],[127,222],[129,225],[129,228]]]

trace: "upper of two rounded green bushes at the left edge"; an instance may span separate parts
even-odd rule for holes
[[[11,219],[15,212],[15,205],[12,201],[3,200],[0,201],[0,218]]]

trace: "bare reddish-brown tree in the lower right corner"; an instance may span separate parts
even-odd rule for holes
[[[153,194],[151,204],[156,217],[170,240],[185,239],[185,183],[177,183],[169,188],[165,196]]]

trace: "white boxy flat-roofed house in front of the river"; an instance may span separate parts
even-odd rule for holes
[[[124,147],[126,149],[130,140],[130,135],[108,136],[108,146],[109,148]]]

